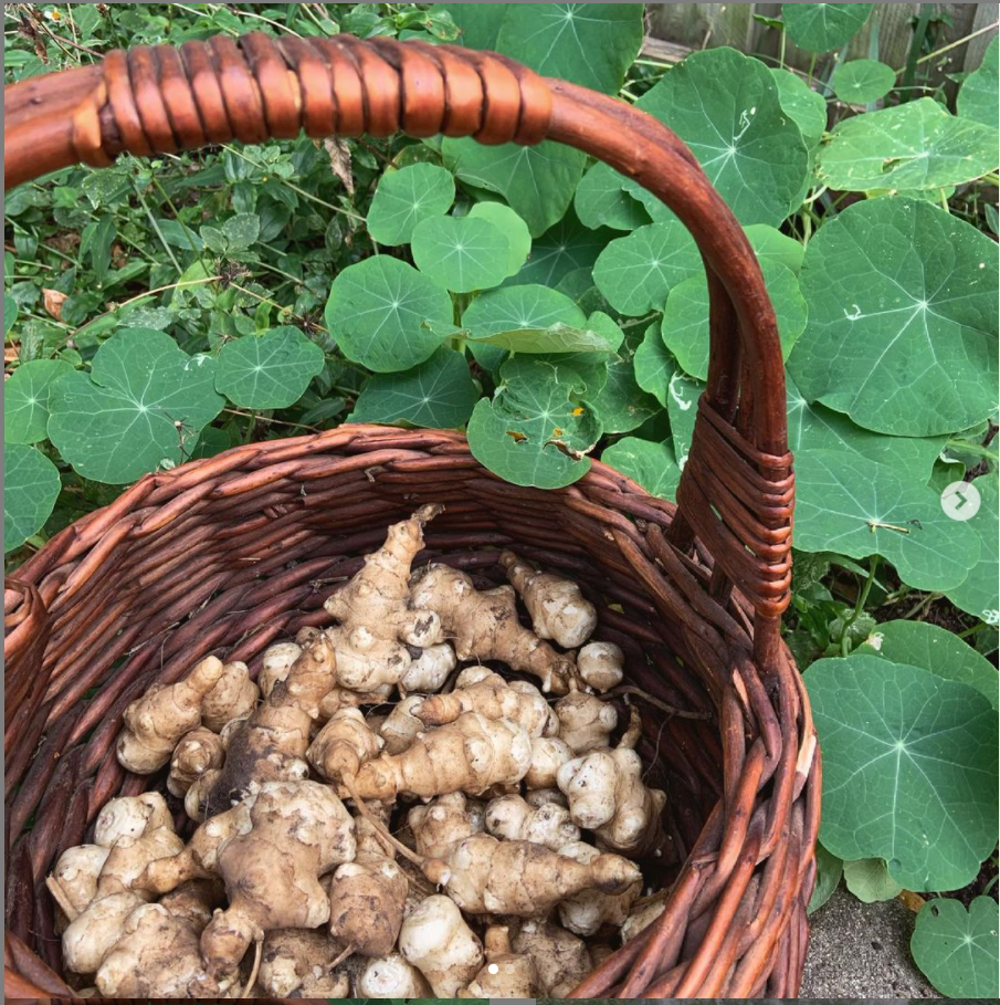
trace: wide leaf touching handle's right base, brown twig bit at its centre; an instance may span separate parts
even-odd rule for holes
[[[885,464],[834,450],[800,453],[796,490],[796,547],[804,552],[882,555],[904,583],[928,590],[958,586],[976,564],[976,534],[945,514],[933,489]]]

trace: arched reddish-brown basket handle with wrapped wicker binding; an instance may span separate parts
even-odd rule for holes
[[[777,658],[791,578],[793,482],[775,313],[743,229],[670,129],[615,98],[491,52],[387,39],[240,39],[138,46],[4,90],[6,185],[83,161],[239,139],[473,136],[583,150],[642,184],[696,240],[709,290],[708,387],[671,540],[697,535],[712,590],[752,604],[758,657]]]

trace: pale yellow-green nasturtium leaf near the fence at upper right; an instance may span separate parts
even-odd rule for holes
[[[938,189],[997,167],[997,129],[922,97],[840,122],[820,149],[821,181],[833,189]]]

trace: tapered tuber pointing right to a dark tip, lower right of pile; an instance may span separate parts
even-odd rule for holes
[[[470,914],[545,915],[580,890],[622,893],[642,878],[618,855],[598,855],[583,863],[530,841],[498,841],[475,834],[453,845],[443,870],[449,897]],[[441,862],[429,878],[441,875]],[[430,869],[425,871],[431,871]]]

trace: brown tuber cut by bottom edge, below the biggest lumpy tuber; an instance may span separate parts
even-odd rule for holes
[[[331,971],[340,946],[326,932],[277,929],[264,936],[261,988],[276,998],[346,998],[350,981]]]

